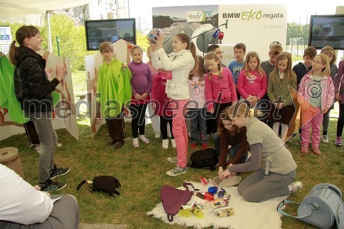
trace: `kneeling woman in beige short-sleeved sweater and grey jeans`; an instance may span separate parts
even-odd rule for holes
[[[255,118],[253,109],[244,102],[237,102],[228,110],[228,116],[237,127],[246,127],[251,159],[244,164],[228,166],[220,175],[221,179],[235,173],[256,171],[246,177],[237,188],[239,194],[248,202],[261,202],[290,195],[302,188],[301,182],[293,182],[297,164],[292,154],[267,124]]]

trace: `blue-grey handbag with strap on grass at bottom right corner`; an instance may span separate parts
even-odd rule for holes
[[[333,184],[316,184],[301,203],[283,200],[277,206],[281,215],[293,217],[321,229],[329,229],[336,223],[337,229],[344,228],[344,205],[341,190]],[[299,204],[297,217],[283,212],[286,204]]]

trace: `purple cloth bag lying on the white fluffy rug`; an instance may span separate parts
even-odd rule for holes
[[[187,186],[184,187],[188,188]],[[187,190],[180,190],[169,185],[162,186],[160,189],[160,198],[162,206],[164,207],[164,211],[167,214],[167,219],[169,219],[170,222],[173,221],[173,217],[177,215],[180,208],[182,208],[182,205],[189,202],[192,196],[193,193],[189,190],[189,188]]]

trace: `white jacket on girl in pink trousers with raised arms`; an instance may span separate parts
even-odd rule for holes
[[[166,80],[166,94],[175,100],[186,100],[190,98],[189,73],[195,66],[195,60],[190,50],[172,52],[167,56],[164,49],[151,53],[153,67],[172,71],[172,79]],[[160,59],[160,60],[159,60]]]

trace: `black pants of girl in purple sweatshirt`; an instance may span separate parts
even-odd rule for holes
[[[138,138],[138,132],[140,135],[144,135],[144,125],[146,124],[146,104],[140,105],[130,105],[131,111],[131,132],[133,133],[133,138]]]

